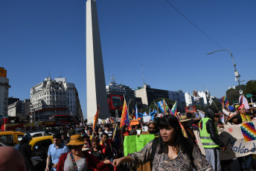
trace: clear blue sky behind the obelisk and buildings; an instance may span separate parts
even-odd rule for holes
[[[255,80],[256,1],[169,0],[222,48],[233,52],[241,80]],[[112,74],[131,88],[211,91],[222,97],[234,81],[230,54],[165,0],[97,0],[106,84]],[[48,77],[77,87],[86,114],[86,0],[1,0],[0,66],[9,96],[30,98]],[[250,51],[243,51],[252,49]]]

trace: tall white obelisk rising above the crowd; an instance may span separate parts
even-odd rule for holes
[[[93,123],[97,105],[100,105],[99,118],[109,117],[95,0],[86,1],[86,88],[88,123]]]

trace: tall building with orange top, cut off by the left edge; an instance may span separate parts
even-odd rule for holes
[[[8,113],[8,94],[9,79],[7,79],[7,71],[0,67],[0,115]]]

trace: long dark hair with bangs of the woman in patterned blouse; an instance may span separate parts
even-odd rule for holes
[[[177,130],[175,135],[176,137],[173,141],[174,148],[176,150],[182,150],[182,153],[186,154],[192,161],[193,143],[183,136],[179,120],[172,114],[164,115],[164,117],[161,117],[161,120],[159,120],[159,129],[168,129],[169,126],[172,126],[173,129]],[[160,138],[159,146],[159,154],[168,153],[168,145],[162,140],[162,138]]]

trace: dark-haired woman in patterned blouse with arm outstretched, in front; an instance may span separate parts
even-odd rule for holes
[[[185,138],[179,126],[179,120],[172,114],[165,115],[159,121],[161,138],[156,147],[153,160],[153,141],[147,143],[140,152],[134,152],[123,158],[113,161],[114,166],[129,163],[131,167],[138,167],[147,161],[153,162],[153,171],[156,170],[213,170],[205,156],[193,145],[191,140]]]

